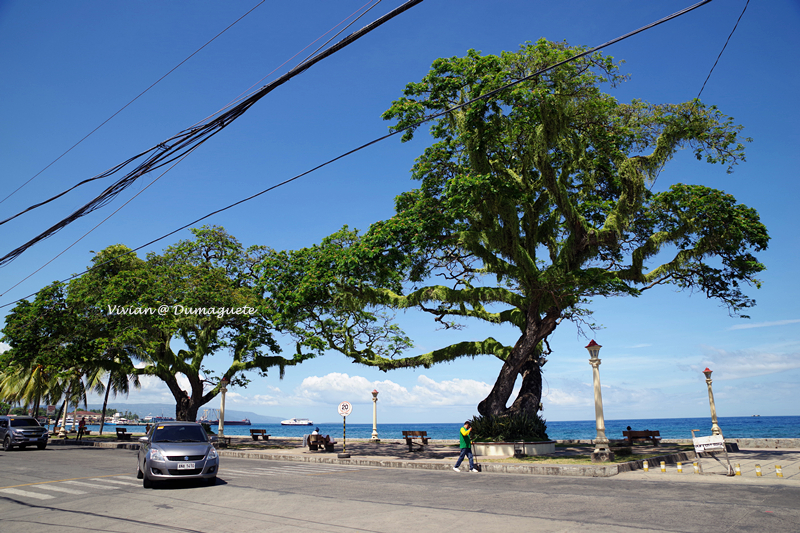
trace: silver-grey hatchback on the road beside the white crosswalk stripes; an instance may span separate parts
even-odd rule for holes
[[[202,479],[214,485],[219,470],[215,440],[197,422],[160,422],[139,439],[136,477],[144,488],[171,479]]]

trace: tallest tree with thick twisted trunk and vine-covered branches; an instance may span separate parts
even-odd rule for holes
[[[409,128],[409,141],[429,115],[580,51],[541,40],[500,56],[438,59],[384,118]],[[758,285],[764,269],[753,255],[768,243],[757,212],[702,185],[651,192],[681,149],[730,171],[744,156],[742,128],[698,100],[621,103],[603,92],[624,79],[596,53],[435,119],[434,142],[412,169],[420,187],[397,198],[397,214],[363,237],[314,247],[311,271],[326,276],[327,297],[309,291],[302,305],[327,313],[318,338],[383,370],[495,356],[502,368],[478,411],[534,414],[548,336],[563,320],[587,320],[591,298],[672,285],[702,291],[733,314],[753,305],[741,289]],[[304,283],[314,285],[307,275]],[[337,310],[348,306],[415,308],[445,327],[506,324],[518,337],[387,355],[335,331]]]

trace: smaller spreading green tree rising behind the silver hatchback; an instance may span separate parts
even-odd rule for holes
[[[178,420],[195,420],[199,408],[219,394],[223,378],[245,386],[248,371],[266,375],[277,367],[283,376],[287,366],[313,356],[279,355],[270,306],[256,289],[256,266],[273,252],[262,246],[245,249],[221,227],[192,233],[193,239],[146,260],[125,254],[130,250],[124,246],[111,246],[70,287],[75,306],[101,315],[108,326],[94,341],[132,373],[161,379],[175,398]],[[130,314],[132,309],[145,312]],[[219,373],[208,365],[208,358],[218,354],[229,358]],[[188,390],[179,382],[181,375]]]

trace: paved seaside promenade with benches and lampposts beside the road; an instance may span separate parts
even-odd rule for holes
[[[689,441],[690,442],[690,441]],[[54,445],[60,444],[54,440]],[[70,439],[66,445],[74,445]],[[100,441],[87,438],[83,443],[87,446],[103,448],[128,448],[135,449],[138,443],[122,443],[114,440]],[[516,461],[513,458],[503,457],[476,457],[481,463],[484,473],[507,474],[532,474],[569,477],[610,477],[620,476],[621,479],[664,480],[680,482],[703,483],[747,483],[769,485],[792,485],[800,487],[800,447],[798,448],[742,448],[737,452],[729,452],[728,458],[731,466],[739,465],[741,475],[727,476],[727,463],[722,453],[715,457],[701,457],[699,459],[703,474],[695,474],[692,463],[697,461],[694,451],[687,450],[686,443],[663,443],[660,446],[637,445],[632,448],[633,458],[657,454],[656,457],[647,459],[649,469],[645,472],[644,459],[631,460],[624,463],[597,463],[573,464],[576,456],[585,456],[591,452],[586,443],[574,445],[562,444],[556,448],[556,453],[548,456],[553,461],[526,462]],[[751,443],[752,444],[752,443]],[[773,444],[755,442],[755,444]],[[408,451],[408,446],[401,440],[382,440],[373,443],[367,440],[347,441],[347,453],[350,458],[339,458],[342,453],[342,443],[336,444],[334,452],[310,451],[302,446],[298,438],[270,438],[268,441],[253,441],[250,437],[231,437],[231,446],[220,449],[221,457],[241,459],[263,459],[278,461],[295,461],[305,463],[327,463],[342,465],[358,465],[385,468],[409,468],[423,470],[450,470],[458,457],[458,441],[431,440],[428,446],[419,451]],[[415,446],[415,449],[417,447]],[[563,463],[559,462],[563,459]],[[661,471],[660,462],[665,462],[665,472]],[[683,472],[678,472],[677,463],[682,463]],[[760,466],[761,476],[757,476],[756,465]],[[777,467],[780,466],[783,477],[778,477]],[[468,474],[467,461],[462,464],[462,475]],[[452,472],[453,475],[459,475]]]

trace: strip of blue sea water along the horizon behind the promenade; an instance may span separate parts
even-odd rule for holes
[[[718,420],[726,438],[800,438],[800,416],[753,416],[722,417]],[[432,439],[458,439],[458,429],[462,423],[441,424],[378,424],[378,438],[401,439],[403,431],[427,431]],[[665,439],[690,439],[693,429],[699,429],[698,436],[711,434],[711,419],[706,418],[654,418],[635,420],[606,420],[606,436],[622,439],[622,432],[628,426],[635,431],[659,431]],[[76,425],[77,427],[77,425]],[[87,429],[97,433],[99,425],[88,425]],[[106,425],[103,433],[114,433],[113,425]],[[123,426],[120,426],[123,427]],[[253,424],[251,426],[225,426],[225,435],[250,435],[251,429],[266,429],[273,437],[302,437],[318,427],[323,435],[341,439],[342,423],[322,423],[313,426],[282,426],[280,424]],[[143,426],[128,426],[129,431],[143,432]],[[216,431],[216,426],[213,427]],[[368,439],[372,436],[372,424],[347,424],[347,438]],[[593,439],[597,435],[594,420],[547,422],[547,435],[552,440]]]

